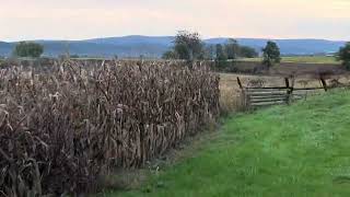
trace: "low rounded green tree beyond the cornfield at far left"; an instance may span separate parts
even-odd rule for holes
[[[33,57],[37,58],[40,57],[42,54],[44,53],[44,47],[39,44],[36,43],[31,43],[31,42],[21,42],[19,43],[15,48],[13,54],[19,57]]]

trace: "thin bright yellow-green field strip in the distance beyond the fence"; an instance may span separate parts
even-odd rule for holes
[[[244,61],[262,61],[262,58],[245,58]],[[282,57],[282,62],[299,62],[299,63],[340,63],[335,57],[327,56],[299,56],[299,57]]]

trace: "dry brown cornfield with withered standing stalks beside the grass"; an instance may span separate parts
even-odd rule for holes
[[[219,77],[171,62],[55,61],[0,71],[0,196],[80,194],[219,115]]]

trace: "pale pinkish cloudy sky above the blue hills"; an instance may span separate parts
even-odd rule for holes
[[[0,40],[125,35],[350,40],[350,0],[0,0]]]

